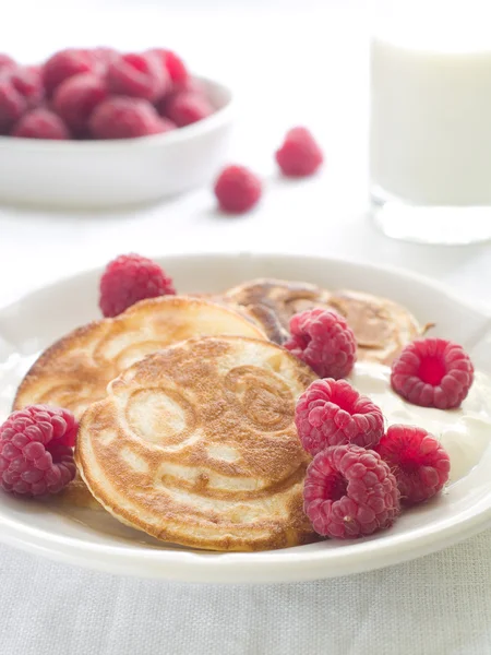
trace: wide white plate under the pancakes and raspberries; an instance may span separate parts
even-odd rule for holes
[[[441,335],[460,342],[480,368],[491,370],[491,317],[438,284],[395,270],[322,258],[182,255],[161,260],[181,291],[217,291],[256,276],[304,279],[384,295],[435,321]],[[68,330],[97,318],[99,271],[61,281],[0,311],[0,409],[35,354]],[[488,345],[486,345],[488,344]],[[491,442],[491,436],[490,436]],[[73,511],[0,496],[0,538],[55,560],[103,571],[190,582],[292,582],[395,564],[465,539],[491,523],[491,448],[448,493],[406,512],[380,535],[355,543],[323,541],[254,553],[216,553],[164,545],[119,524],[105,512]]]

